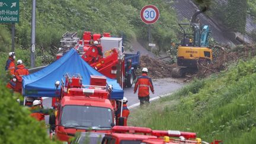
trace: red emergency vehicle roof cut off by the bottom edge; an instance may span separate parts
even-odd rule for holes
[[[220,140],[215,140],[211,144],[219,144]],[[152,130],[146,127],[114,126],[111,133],[105,134],[102,144],[175,144],[191,143],[200,144],[203,142],[196,137],[196,133],[180,132],[177,130]]]

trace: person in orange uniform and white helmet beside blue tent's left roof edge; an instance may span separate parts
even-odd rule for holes
[[[15,77],[17,78],[16,86],[14,91],[20,92],[22,90],[22,76],[28,75],[28,69],[23,65],[23,61],[21,59],[17,60],[17,68],[15,69]]]

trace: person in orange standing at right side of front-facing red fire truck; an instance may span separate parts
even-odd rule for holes
[[[128,116],[130,114],[130,111],[127,107],[127,98],[124,97],[123,100],[118,100],[119,103],[117,104],[118,105],[118,108],[117,108],[117,111],[116,111],[116,124],[119,126],[119,117],[123,117],[124,118],[124,126],[127,126],[127,119],[128,119]],[[123,101],[123,108],[121,108],[121,102]],[[122,114],[121,114],[121,109],[122,109]],[[121,116],[122,115],[122,116]]]

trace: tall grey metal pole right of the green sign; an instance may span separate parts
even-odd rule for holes
[[[31,68],[35,66],[35,38],[36,37],[36,0],[32,2],[32,19],[31,19],[31,53],[30,53],[30,63]]]

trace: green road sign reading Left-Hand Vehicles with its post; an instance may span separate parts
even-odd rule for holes
[[[0,23],[12,23],[12,52],[14,52],[15,23],[19,22],[19,0],[0,0]]]

